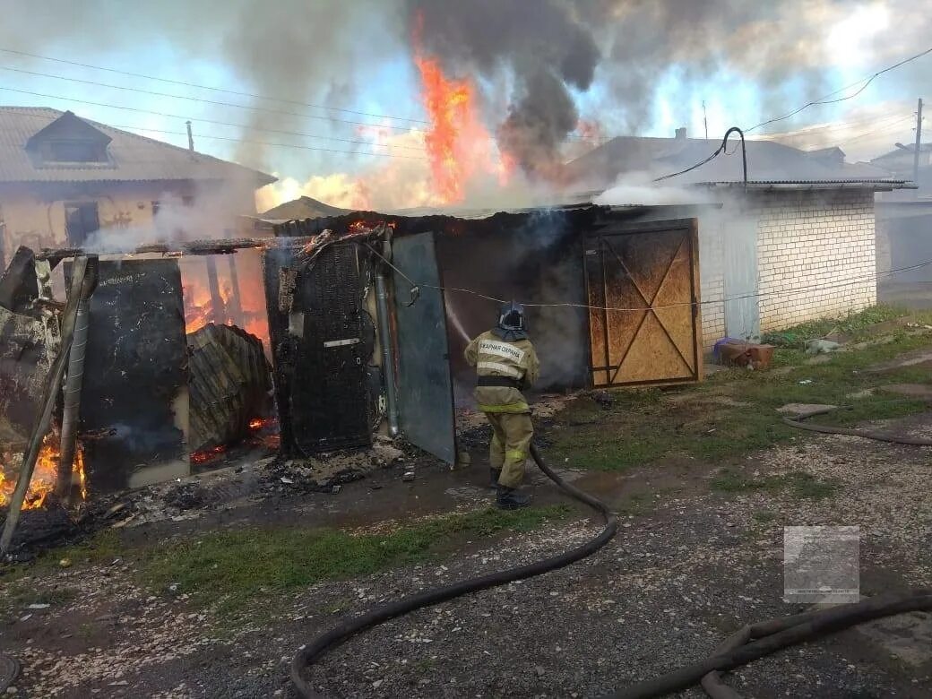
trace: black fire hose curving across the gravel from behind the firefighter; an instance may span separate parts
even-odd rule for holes
[[[435,587],[431,590],[425,590],[417,595],[399,599],[396,602],[380,605],[373,610],[352,619],[347,619],[341,624],[336,625],[326,633],[311,640],[308,645],[303,646],[297,652],[291,665],[291,678],[295,684],[295,689],[305,699],[322,699],[322,694],[316,692],[310,686],[308,680],[304,677],[304,672],[311,665],[318,661],[326,651],[330,651],[350,637],[359,632],[382,624],[395,617],[403,616],[410,611],[432,607],[435,604],[446,602],[456,597],[467,595],[480,590],[487,590],[490,587],[499,587],[508,583],[514,583],[516,580],[526,580],[536,575],[549,572],[559,568],[569,566],[578,560],[585,558],[587,555],[595,554],[602,546],[608,543],[618,531],[618,518],[610,512],[609,506],[602,500],[589,493],[583,492],[578,487],[570,486],[546,464],[541,457],[537,447],[531,445],[530,455],[537,462],[541,471],[552,480],[561,490],[569,496],[580,500],[592,507],[598,514],[605,519],[605,528],[599,532],[598,536],[591,541],[586,541],[581,546],[577,546],[563,554],[554,555],[541,561],[528,563],[526,566],[500,570],[499,572],[489,573],[479,578],[451,583],[443,587]]]

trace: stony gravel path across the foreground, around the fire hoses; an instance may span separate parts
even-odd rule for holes
[[[928,432],[930,418],[914,424]],[[332,697],[597,696],[704,657],[748,621],[802,609],[781,601],[784,525],[859,525],[865,594],[932,584],[928,464],[922,450],[801,438],[748,459],[745,471],[833,479],[841,487],[829,500],[770,491],[658,496],[650,514],[625,517],[616,540],[582,563],[372,629],[309,677]],[[553,554],[598,524],[563,523],[469,544],[443,565],[321,583],[271,618],[261,604],[246,618],[217,620],[183,596],[153,596],[123,562],[56,571],[34,583],[74,588],[75,600],[20,610],[0,627],[0,651],[24,668],[10,696],[293,696],[291,655],[341,614]],[[748,697],[932,695],[932,651],[910,663],[884,638],[845,632],[749,665],[729,682]]]

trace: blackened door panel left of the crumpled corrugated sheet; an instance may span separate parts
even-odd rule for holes
[[[112,491],[187,473],[186,401],[178,262],[102,261],[81,389],[81,429],[97,435],[84,442],[91,487]]]

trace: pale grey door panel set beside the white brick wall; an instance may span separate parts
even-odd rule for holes
[[[756,341],[761,337],[757,222],[739,219],[724,228],[725,335]]]

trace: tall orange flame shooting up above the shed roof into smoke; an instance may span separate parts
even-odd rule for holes
[[[421,101],[431,122],[424,144],[433,191],[448,204],[466,199],[466,186],[479,173],[496,174],[500,185],[506,185],[514,172],[514,158],[493,147],[479,117],[473,81],[448,77],[438,61],[421,51],[421,23],[418,17],[413,40]]]

